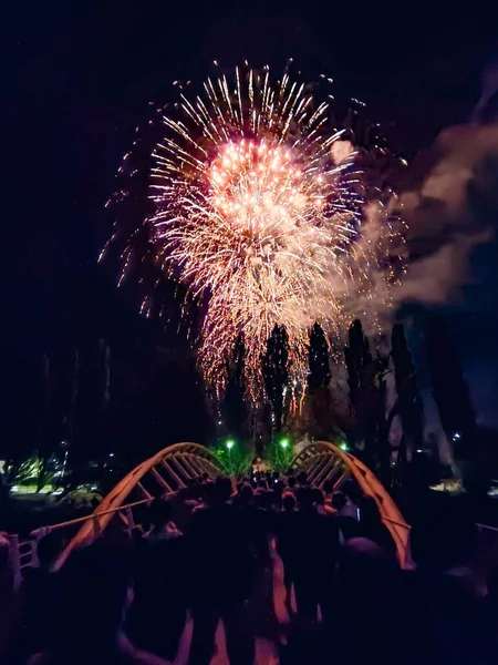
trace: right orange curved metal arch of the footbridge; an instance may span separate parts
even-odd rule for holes
[[[406,523],[396,503],[393,501],[378,478],[361,460],[345,452],[330,441],[315,441],[307,446],[294,459],[293,466],[300,466],[307,459],[328,454],[340,460],[357,482],[363,493],[374,499],[381,519],[396,545],[401,565],[409,564],[409,524]]]

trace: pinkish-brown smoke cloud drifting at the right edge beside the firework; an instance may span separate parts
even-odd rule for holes
[[[491,92],[488,86],[481,99]],[[408,225],[407,273],[395,294],[400,305],[452,301],[471,279],[474,250],[497,231],[498,124],[449,127],[425,157],[430,166],[400,197]]]

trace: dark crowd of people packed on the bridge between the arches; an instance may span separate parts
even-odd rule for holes
[[[211,662],[220,621],[231,665],[255,662],[258,637],[283,665],[497,662],[497,575],[475,572],[471,520],[433,512],[415,524],[403,570],[375,501],[341,489],[303,473],[204,478],[144,507],[139,526],[107,528],[59,572],[60,542],[46,535],[15,597],[0,542],[0,662],[173,663],[188,618],[191,665]]]

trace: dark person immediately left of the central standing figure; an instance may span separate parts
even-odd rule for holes
[[[170,518],[170,504],[156,499],[152,530],[136,549],[127,632],[136,646],[174,661],[187,618],[187,590],[185,538]]]

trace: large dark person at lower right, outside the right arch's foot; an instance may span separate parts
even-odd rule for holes
[[[405,573],[405,596],[419,661],[496,663],[496,633],[473,571],[477,528],[465,505],[452,499],[425,510],[411,544],[417,569]]]

